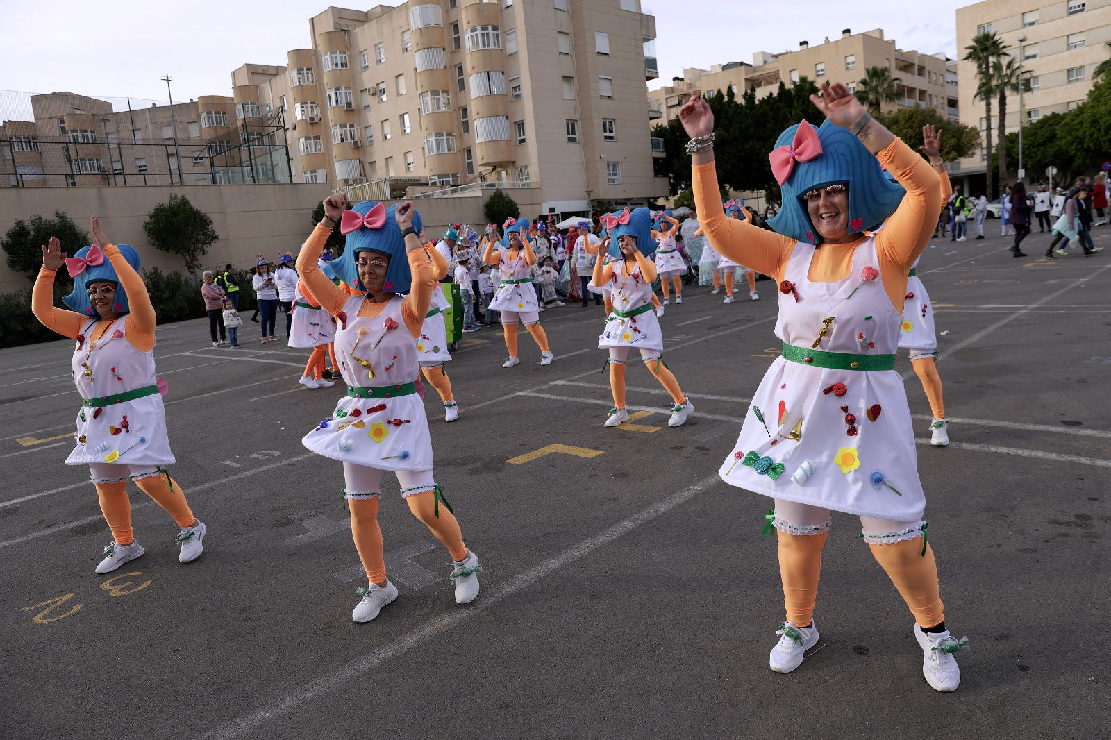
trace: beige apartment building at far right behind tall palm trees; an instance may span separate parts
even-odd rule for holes
[[[957,48],[961,57],[978,33],[994,32],[1010,47],[1014,59],[1022,60],[1029,71],[1030,88],[1019,96],[1008,96],[1007,131],[1018,131],[1042,116],[1072,110],[1092,89],[1092,71],[1108,59],[1107,42],[1111,41],[1111,0],[985,0],[957,10]],[[1020,40],[1024,39],[1024,40]],[[979,127],[987,124],[983,101],[973,99],[975,66],[961,60],[958,73],[967,83],[961,88],[961,122]],[[995,102],[994,100],[992,102]],[[992,106],[992,139],[999,121]],[[954,174],[981,176],[987,163],[987,149],[979,157],[960,162]],[[1044,179],[1043,172],[1025,172],[1028,182]]]

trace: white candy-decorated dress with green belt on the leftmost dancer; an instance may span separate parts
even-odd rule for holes
[[[173,464],[153,350],[144,352],[128,341],[127,317],[90,341],[97,323],[86,322],[73,348],[73,384],[87,401],[78,412],[77,444],[66,464]]]

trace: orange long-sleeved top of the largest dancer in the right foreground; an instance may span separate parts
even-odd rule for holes
[[[902,311],[907,273],[933,236],[940,213],[941,188],[930,164],[901,139],[895,138],[877,152],[888,172],[907,190],[899,208],[874,234],[879,269],[891,304]],[[694,206],[707,238],[728,259],[783,280],[795,240],[725,216],[713,162],[693,168]],[[852,184],[850,183],[850,188]],[[852,242],[818,244],[807,278],[813,282],[835,282],[848,277],[857,247],[868,233]]]

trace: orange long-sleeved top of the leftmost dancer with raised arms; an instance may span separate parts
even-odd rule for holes
[[[150,296],[147,294],[147,284],[116,244],[108,244],[103,251],[104,257],[116,269],[120,286],[128,294],[130,313],[123,322],[124,336],[132,347],[149,352],[154,347],[154,326],[158,323],[158,317],[154,314],[154,307],[151,306]],[[31,312],[42,326],[70,339],[77,339],[81,333],[81,327],[92,318],[54,306],[54,271],[47,268],[39,269],[39,277],[34,281],[34,289],[31,291]],[[101,319],[101,322],[103,321]],[[107,330],[107,326],[104,329]]]

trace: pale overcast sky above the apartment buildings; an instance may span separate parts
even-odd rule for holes
[[[838,38],[843,28],[854,33],[882,28],[901,49],[953,57],[955,9],[971,3],[940,0],[931,3],[930,16],[923,16],[921,6],[911,9],[901,2],[723,4],[642,0],[642,7],[655,14],[658,36],[660,79],[650,88],[680,76],[687,67],[751,62],[754,51],[795,50],[802,40],[815,46],[827,36]],[[777,6],[790,8],[790,17],[778,16]],[[26,96],[9,90],[166,100],[166,82],[159,78],[167,73],[173,78],[174,100],[230,96],[231,70],[246,62],[284,64],[288,50],[311,47],[309,17],[326,7],[326,2],[291,0],[251,6],[214,0],[6,2],[0,23],[0,119],[30,118]]]

